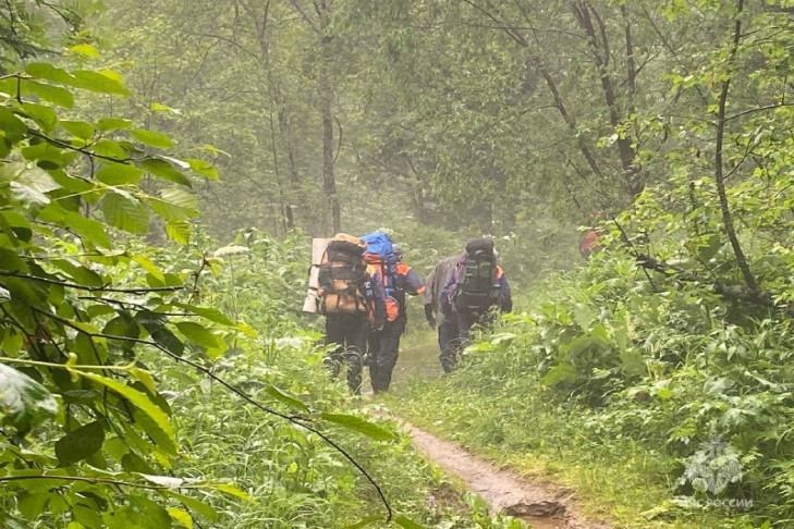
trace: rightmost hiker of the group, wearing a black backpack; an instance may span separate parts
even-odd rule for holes
[[[472,238],[459,257],[447,285],[439,294],[439,306],[444,318],[457,320],[457,339],[453,347],[457,354],[468,341],[475,323],[488,323],[494,309],[513,310],[513,298],[504,271],[497,264],[493,241]]]

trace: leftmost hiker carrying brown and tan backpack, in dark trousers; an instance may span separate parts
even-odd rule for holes
[[[317,312],[326,316],[326,345],[337,344],[326,364],[337,377],[347,365],[347,385],[362,389],[362,368],[367,336],[383,328],[386,296],[377,270],[366,264],[367,243],[337,234],[328,244],[319,266]]]

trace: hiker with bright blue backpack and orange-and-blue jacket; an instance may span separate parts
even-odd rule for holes
[[[369,334],[367,364],[375,393],[391,385],[391,376],[400,354],[400,336],[405,332],[407,313],[405,295],[419,295],[425,291],[419,276],[402,262],[402,250],[386,233],[375,232],[363,237],[368,244],[364,259],[374,267],[383,282],[387,318],[383,329]]]

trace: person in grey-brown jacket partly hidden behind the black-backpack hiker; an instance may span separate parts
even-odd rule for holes
[[[445,318],[439,307],[439,295],[447,285],[450,274],[460,262],[460,256],[441,259],[432,267],[425,280],[425,318],[430,329],[438,331],[439,361],[444,372],[455,366],[454,342],[457,339],[457,318]]]

